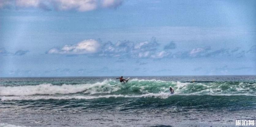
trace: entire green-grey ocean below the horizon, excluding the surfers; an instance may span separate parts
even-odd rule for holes
[[[256,120],[256,76],[116,78],[0,78],[0,127],[234,127]]]

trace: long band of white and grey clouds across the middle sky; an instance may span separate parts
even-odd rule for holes
[[[254,52],[254,45],[247,52]],[[211,47],[198,47],[187,51],[178,51],[172,53],[170,49],[176,48],[175,43],[161,47],[157,43],[156,38],[152,37],[149,41],[134,43],[132,41],[117,41],[112,43],[108,41],[102,43],[94,39],[85,40],[73,45],[65,45],[62,48],[51,48],[47,54],[65,54],[79,55],[91,54],[94,57],[117,57],[117,58],[203,58],[203,57],[218,57],[232,56],[241,58],[246,55],[246,51],[236,47],[234,49],[221,48],[212,50]],[[122,61],[116,61],[122,62]]]

